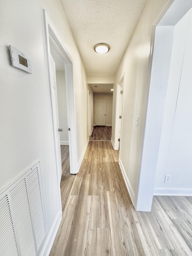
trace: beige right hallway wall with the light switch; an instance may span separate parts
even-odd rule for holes
[[[119,158],[122,161],[134,196],[136,194],[137,175],[139,171],[143,108],[146,95],[152,23],[165,2],[165,0],[147,1],[114,79],[112,121],[113,141],[115,140],[117,82],[125,72],[122,140]],[[136,126],[136,116],[139,116],[139,126]]]

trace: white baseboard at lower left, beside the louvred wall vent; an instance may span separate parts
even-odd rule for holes
[[[46,237],[46,240],[44,242],[44,245],[43,245],[43,248],[40,252],[40,256],[49,256],[49,253],[51,251],[51,248],[52,248],[52,245],[53,245],[53,242],[55,240],[55,236],[57,234],[57,231],[58,231],[58,228],[59,228],[59,225],[61,223],[61,218],[62,218],[62,213],[60,211],[58,211],[56,217],[55,217],[55,220],[52,224],[52,227]]]

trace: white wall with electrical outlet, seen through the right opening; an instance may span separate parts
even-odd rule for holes
[[[156,168],[155,194],[184,194],[186,188],[192,190],[191,45],[192,15],[189,11],[175,26]],[[171,175],[170,183],[164,183],[165,175]]]

